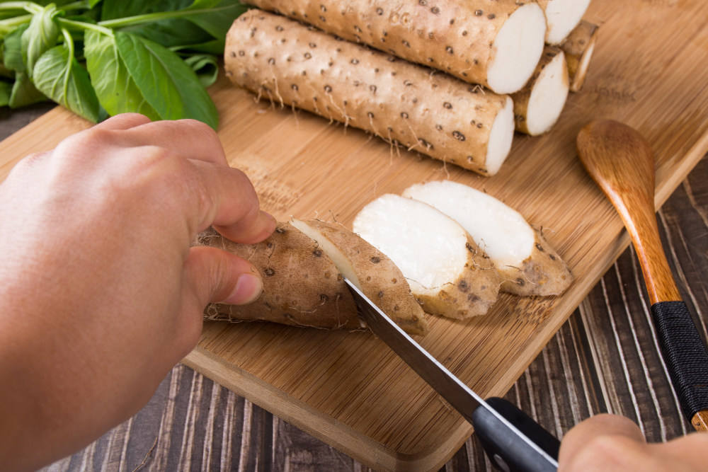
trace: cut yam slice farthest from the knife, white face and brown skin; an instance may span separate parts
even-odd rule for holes
[[[571,284],[568,266],[539,231],[491,195],[450,180],[412,185],[403,195],[457,221],[501,273],[503,291],[559,295]]]

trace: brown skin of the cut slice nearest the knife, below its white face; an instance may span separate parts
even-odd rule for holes
[[[496,303],[500,273],[469,235],[467,252],[465,270],[455,282],[439,287],[434,294],[416,294],[427,313],[466,319],[486,314]]]

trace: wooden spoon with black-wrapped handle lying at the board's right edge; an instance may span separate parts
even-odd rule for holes
[[[615,205],[636,249],[663,358],[681,408],[697,431],[708,431],[708,351],[666,260],[654,209],[654,159],[639,132],[612,120],[578,133],[583,166]]]

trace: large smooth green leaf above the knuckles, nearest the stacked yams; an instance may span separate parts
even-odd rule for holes
[[[115,44],[131,78],[164,120],[193,118],[212,128],[218,126],[216,105],[194,71],[177,54],[156,42],[120,31],[115,33]]]

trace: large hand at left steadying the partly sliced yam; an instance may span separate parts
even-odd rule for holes
[[[119,115],[17,164],[0,185],[0,464],[36,468],[147,403],[196,345],[210,301],[258,271],[190,248],[210,225],[262,241],[275,220],[200,122]]]

